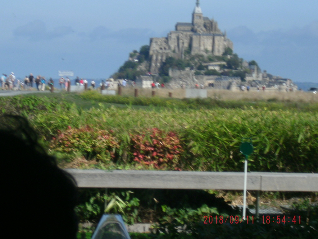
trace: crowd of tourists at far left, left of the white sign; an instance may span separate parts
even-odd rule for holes
[[[29,76],[25,76],[24,80],[21,81],[16,79],[13,72],[11,72],[9,76],[3,73],[0,78],[1,89],[7,91],[32,90],[33,85],[38,91],[44,91],[45,85],[50,85],[52,83],[52,78],[47,81],[44,76],[38,75],[34,77],[32,73],[30,73]]]

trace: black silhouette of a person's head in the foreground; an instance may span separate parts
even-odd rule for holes
[[[9,238],[76,238],[76,186],[19,116],[0,117],[3,228]]]

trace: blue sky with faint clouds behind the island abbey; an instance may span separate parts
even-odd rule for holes
[[[190,22],[195,0],[2,0],[0,73],[107,78],[132,50]],[[201,0],[234,52],[268,73],[318,82],[318,1]],[[64,59],[64,60],[62,60]]]

